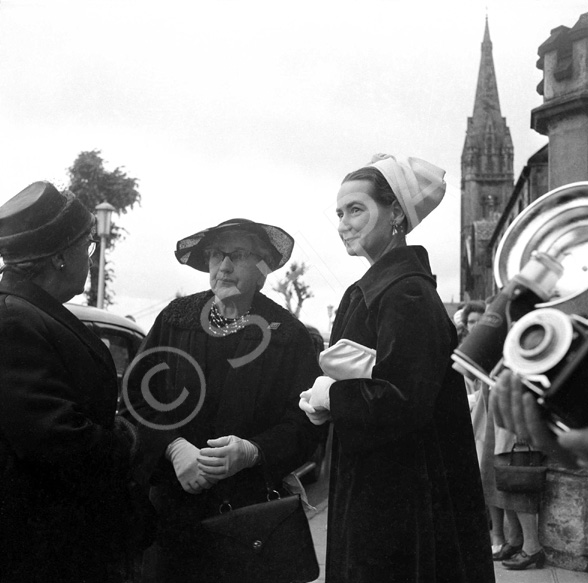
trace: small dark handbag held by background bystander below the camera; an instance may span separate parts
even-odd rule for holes
[[[516,451],[519,445],[515,443],[510,453],[495,456],[496,489],[515,493],[542,492],[547,473],[547,467],[543,465],[544,455],[532,451],[528,445],[525,451]]]

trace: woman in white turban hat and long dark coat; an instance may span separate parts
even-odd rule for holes
[[[427,252],[405,239],[443,198],[444,174],[379,157],[337,197],[347,253],[371,267],[345,292],[324,376],[300,400],[334,428],[329,583],[494,581],[466,392],[451,368],[455,326]],[[358,373],[347,365],[359,352],[374,358]]]

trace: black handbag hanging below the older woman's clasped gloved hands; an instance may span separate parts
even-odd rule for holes
[[[223,503],[220,511],[201,522],[207,550],[219,565],[218,583],[307,583],[318,578],[300,496],[271,499],[268,491],[267,502],[236,510]]]

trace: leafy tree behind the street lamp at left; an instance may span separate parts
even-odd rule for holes
[[[92,213],[101,202],[110,203],[117,214],[125,214],[135,204],[141,203],[141,195],[137,190],[139,181],[127,176],[122,168],[106,170],[100,150],[81,152],[68,169],[68,174],[69,189]],[[125,234],[125,229],[113,221],[106,250],[114,247]],[[98,268],[98,262],[95,261],[90,269],[90,288],[86,290],[86,298],[90,306],[96,305],[98,296]],[[108,291],[108,284],[113,280],[113,272],[109,267],[106,267],[104,276],[106,285],[104,303],[109,305],[112,303],[112,294]]]

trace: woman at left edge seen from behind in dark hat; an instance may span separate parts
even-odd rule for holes
[[[94,217],[35,182],[0,207],[0,580],[118,582],[134,429],[108,349],[65,307]]]

